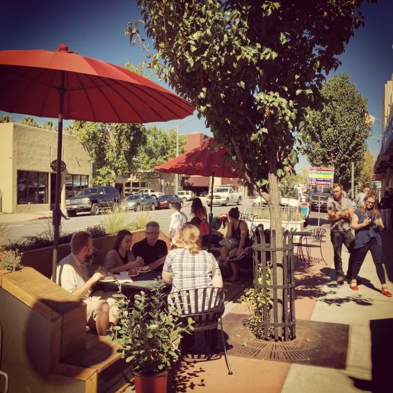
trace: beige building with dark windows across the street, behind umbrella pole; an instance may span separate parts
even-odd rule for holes
[[[19,123],[0,124],[0,211],[23,213],[54,208],[57,132]],[[61,209],[65,198],[86,188],[93,163],[74,135],[63,135]]]

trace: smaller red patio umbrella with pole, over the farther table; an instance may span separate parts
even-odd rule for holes
[[[239,177],[241,173],[234,162],[228,157],[228,150],[223,146],[214,145],[214,139],[209,139],[202,147],[197,147],[188,153],[175,157],[166,163],[156,166],[154,170],[180,175],[211,176],[210,213],[209,213],[209,249],[211,239],[211,220],[213,220],[213,186],[214,176]]]

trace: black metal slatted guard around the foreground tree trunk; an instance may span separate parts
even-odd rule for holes
[[[259,307],[257,316],[264,329],[264,339],[275,341],[289,341],[296,338],[295,319],[295,279],[294,279],[294,230],[285,231],[282,248],[276,247],[275,231],[264,232],[263,226],[259,225],[254,234],[254,287],[255,295],[266,299],[270,295],[273,307],[265,302],[262,305],[262,315]],[[269,239],[270,237],[270,239]],[[266,239],[267,238],[267,239]],[[278,261],[278,252],[282,254],[282,261]],[[259,268],[261,266],[261,268]],[[268,268],[271,274],[268,274]],[[278,268],[282,268],[282,284],[278,284]],[[261,271],[261,275],[259,274]],[[259,280],[262,278],[262,282]],[[271,282],[268,284],[268,282]],[[279,298],[279,294],[282,294]],[[279,304],[282,305],[282,319],[279,320]],[[273,330],[273,332],[272,332]]]

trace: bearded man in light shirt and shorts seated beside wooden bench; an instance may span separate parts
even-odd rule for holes
[[[94,253],[90,232],[74,233],[70,246],[70,255],[61,259],[57,265],[56,282],[78,299],[83,299],[87,305],[87,323],[95,320],[97,334],[105,336],[109,326],[118,322],[118,308],[114,305],[116,300],[111,297],[114,292],[91,292],[96,282],[106,275],[106,271],[100,266],[93,276],[89,277],[88,267]]]

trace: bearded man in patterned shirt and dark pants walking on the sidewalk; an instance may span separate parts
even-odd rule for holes
[[[352,202],[342,196],[342,185],[333,185],[333,196],[328,200],[328,218],[330,220],[330,240],[335,252],[335,270],[337,284],[344,284],[344,271],[342,270],[342,245],[350,252],[347,277],[351,277],[355,254],[353,252],[355,237],[351,232],[351,219],[353,216]]]

